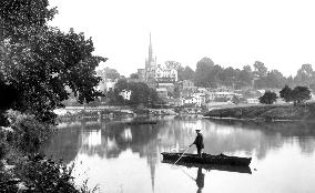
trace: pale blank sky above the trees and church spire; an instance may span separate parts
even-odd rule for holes
[[[295,75],[315,69],[313,0],[50,0],[59,13],[50,26],[92,37],[94,53],[123,75],[143,69],[152,34],[158,63],[195,70],[204,57],[222,67],[262,61]]]

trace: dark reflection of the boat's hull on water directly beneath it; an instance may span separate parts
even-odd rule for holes
[[[163,161],[163,163],[173,164],[174,162]],[[176,165],[183,165],[186,167],[202,167],[205,169],[206,171],[217,170],[217,171],[252,174],[252,170],[248,165],[220,165],[220,164],[200,164],[200,163],[184,163],[184,162],[177,162]]]

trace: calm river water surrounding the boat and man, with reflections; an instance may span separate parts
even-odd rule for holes
[[[252,173],[161,163],[160,153],[183,151],[196,128],[203,130],[206,153],[252,156]],[[196,118],[166,118],[156,125],[64,123],[44,146],[47,154],[75,163],[78,183],[88,179],[91,187],[99,185],[106,193],[311,193],[315,192],[314,150],[314,125]]]

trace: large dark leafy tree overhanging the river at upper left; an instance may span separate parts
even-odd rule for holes
[[[93,42],[83,33],[49,27],[55,13],[48,0],[0,2],[0,81],[19,93],[2,111],[14,109],[51,121],[53,109],[69,98],[67,85],[79,102],[98,95],[94,69],[105,59],[92,54]]]

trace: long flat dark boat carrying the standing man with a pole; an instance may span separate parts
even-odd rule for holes
[[[182,153],[161,153],[163,155],[163,161],[176,162]],[[238,156],[228,156],[224,154],[211,155],[203,153],[202,158],[199,158],[197,154],[184,154],[180,162],[183,163],[200,163],[200,164],[219,164],[219,165],[250,165],[252,158],[238,158]]]

